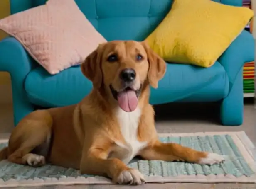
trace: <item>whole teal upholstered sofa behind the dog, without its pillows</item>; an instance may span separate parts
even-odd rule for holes
[[[44,3],[45,0],[10,0],[11,14]],[[242,0],[221,3],[241,6]],[[76,4],[108,41],[142,41],[169,12],[172,0],[76,0]],[[158,89],[151,90],[150,103],[219,102],[222,124],[241,125],[243,65],[253,60],[253,36],[242,31],[210,68],[167,63]],[[38,107],[75,104],[92,88],[79,66],[49,75],[12,37],[0,41],[0,71],[11,75],[15,125]]]

